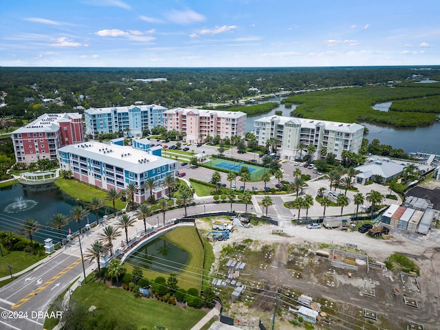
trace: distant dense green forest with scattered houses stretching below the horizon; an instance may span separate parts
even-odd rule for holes
[[[44,112],[74,111],[81,105],[111,107],[144,102],[164,107],[200,106],[207,102],[238,101],[278,91],[364,86],[388,80],[404,80],[414,74],[410,67],[315,67],[315,68],[11,68],[0,67],[0,91],[7,107],[0,117],[32,119]],[[144,83],[135,79],[167,78]],[[28,101],[25,102],[25,99]],[[30,99],[30,98],[33,98]],[[43,99],[60,102],[43,104]]]

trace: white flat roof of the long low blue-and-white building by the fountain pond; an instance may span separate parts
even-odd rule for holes
[[[109,145],[96,141],[72,144],[58,150],[118,166],[133,173],[143,173],[153,168],[177,163],[175,160],[151,155],[131,146]]]

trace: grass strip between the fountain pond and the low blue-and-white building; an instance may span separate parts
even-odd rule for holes
[[[98,197],[105,203],[106,206],[113,208],[113,202],[105,199],[107,192],[104,190],[88,186],[87,184],[83,184],[76,180],[58,179],[55,181],[55,184],[67,195],[80,199],[81,201],[88,203],[92,198]],[[123,203],[119,199],[115,201],[115,208],[121,210],[122,208],[125,208],[125,206],[126,203]]]

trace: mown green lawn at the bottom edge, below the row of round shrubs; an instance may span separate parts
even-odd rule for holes
[[[138,329],[153,329],[158,323],[168,329],[191,329],[206,315],[205,311],[199,309],[182,309],[155,299],[134,298],[132,292],[94,281],[78,287],[72,298],[86,307],[96,306],[96,310],[103,314],[131,320]]]

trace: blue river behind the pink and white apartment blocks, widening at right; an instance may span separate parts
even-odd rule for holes
[[[266,102],[278,102],[278,100],[268,100]],[[389,106],[388,106],[389,107]],[[273,109],[267,113],[261,113],[259,115],[248,115],[246,119],[246,132],[254,130],[254,120],[267,117],[268,115],[274,115],[275,111],[281,110],[283,116],[289,117],[290,111],[296,109],[296,106],[287,109],[284,104],[276,109]],[[381,109],[386,111],[385,109]],[[369,133],[366,133],[364,137],[371,142],[374,139],[380,141],[381,144],[389,144],[393,148],[401,148],[406,153],[412,153],[416,151],[435,153],[440,155],[440,122],[434,122],[429,126],[420,127],[394,127],[390,125],[381,124],[368,124],[360,123],[369,129]]]

